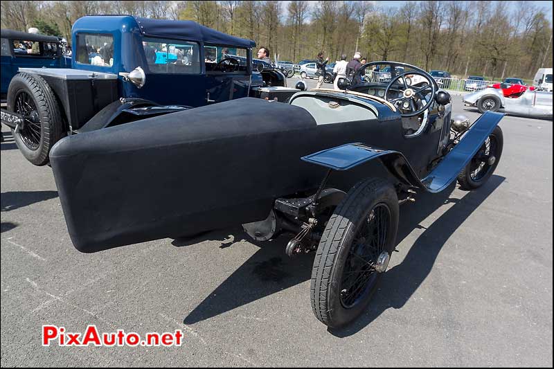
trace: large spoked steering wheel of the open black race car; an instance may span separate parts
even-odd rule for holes
[[[429,83],[423,84],[420,87],[412,86],[406,83],[406,75],[421,75]],[[391,89],[391,87],[393,87],[393,84],[395,84],[396,81],[400,80],[400,78],[402,78],[402,85],[399,87],[398,84],[396,84],[395,88],[400,89],[400,91],[402,92],[402,96],[400,98],[389,99],[387,97],[388,91]],[[429,92],[431,92],[431,98],[429,99],[429,101],[427,101],[425,100],[425,95],[427,95]],[[388,82],[385,89],[385,98],[388,102],[392,102],[394,105],[396,105],[400,109],[400,111],[408,111],[406,113],[401,112],[400,116],[410,117],[422,114],[429,106],[431,106],[434,100],[435,93],[436,87],[434,81],[429,80],[429,76],[427,75],[427,73],[422,73],[420,71],[407,71],[401,73],[400,75],[397,75],[391,80],[391,82]],[[420,101],[422,102],[423,106],[418,108],[417,103]]]

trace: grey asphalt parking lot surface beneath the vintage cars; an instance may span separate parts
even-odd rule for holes
[[[459,95],[453,110],[480,115]],[[380,290],[342,330],[312,314],[314,255],[287,258],[286,237],[255,244],[238,227],[78,252],[51,168],[28,163],[3,126],[1,366],[552,367],[553,123],[500,125],[503,155],[485,186],[400,208]],[[43,347],[44,324],[181,329],[184,343]]]

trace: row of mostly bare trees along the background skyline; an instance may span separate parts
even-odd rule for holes
[[[271,59],[330,60],[355,51],[461,78],[532,78],[552,66],[552,19],[528,1],[1,1],[1,27],[71,42],[84,15],[188,19],[266,46]]]

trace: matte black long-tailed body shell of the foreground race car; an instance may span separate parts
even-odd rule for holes
[[[316,125],[301,107],[241,98],[69,136],[50,159],[71,240],[94,252],[265,219],[276,198],[319,186],[325,168],[301,156],[344,143],[427,165],[426,139],[406,145],[400,119]],[[375,165],[330,184],[384,175]]]

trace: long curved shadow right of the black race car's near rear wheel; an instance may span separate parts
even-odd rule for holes
[[[351,336],[362,330],[366,325],[378,318],[386,309],[401,309],[429,276],[435,260],[450,236],[458,229],[465,219],[496,190],[506,178],[492,175],[487,183],[478,190],[467,192],[462,199],[445,199],[446,202],[454,202],[443,215],[425,229],[411,246],[406,258],[401,264],[386,271],[381,280],[379,291],[373,296],[366,312],[351,325],[340,330],[328,331],[334,336]],[[452,186],[452,185],[451,185]],[[449,190],[451,192],[452,190]],[[430,212],[438,208],[439,199],[433,199],[437,195],[423,194],[418,197],[415,206],[410,210],[400,212],[400,226],[397,244],[406,237],[413,228],[417,227],[422,219]],[[418,206],[419,204],[419,206]],[[394,255],[393,255],[394,258]]]

